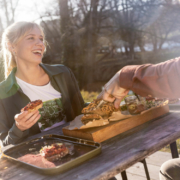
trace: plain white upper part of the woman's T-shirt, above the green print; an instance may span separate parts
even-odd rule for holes
[[[26,94],[31,101],[41,99],[44,102],[55,98],[61,98],[61,93],[56,91],[50,82],[44,86],[35,86],[19,79],[18,77],[16,77],[16,81],[21,87],[23,93]]]

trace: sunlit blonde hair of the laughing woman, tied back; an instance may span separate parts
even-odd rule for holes
[[[33,29],[34,27],[38,27],[43,36],[44,36],[44,42],[45,46],[47,45],[47,42],[45,40],[45,35],[43,32],[43,29],[41,26],[34,22],[26,22],[26,21],[21,21],[21,22],[16,22],[9,27],[5,29],[2,35],[2,41],[1,41],[1,51],[3,54],[4,58],[4,70],[5,70],[5,78],[8,77],[10,72],[14,67],[16,67],[16,59],[12,51],[8,48],[8,44],[10,43],[11,45],[18,43],[28,31]]]

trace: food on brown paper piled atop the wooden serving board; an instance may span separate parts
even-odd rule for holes
[[[131,113],[134,114],[130,114],[127,103],[124,101],[122,101],[120,107],[116,109],[113,103],[93,100],[89,106],[82,110],[83,114],[76,116],[75,119],[70,122],[67,129],[75,130],[108,126],[111,121],[124,120],[131,118],[133,115],[148,113],[153,109],[157,109],[158,111],[159,107],[166,106],[168,103],[166,99],[145,98],[140,96],[138,96],[138,99],[135,105],[129,104],[130,111],[133,111]]]

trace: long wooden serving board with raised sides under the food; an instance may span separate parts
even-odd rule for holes
[[[68,126],[66,126],[63,128],[63,134],[95,142],[103,142],[168,112],[169,106],[166,104],[161,107],[149,109],[142,114],[132,116],[128,119],[110,122],[108,125],[101,127],[69,130]]]

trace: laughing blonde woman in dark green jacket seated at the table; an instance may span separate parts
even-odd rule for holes
[[[63,65],[42,64],[46,40],[42,28],[32,22],[17,22],[2,35],[6,79],[0,83],[1,146],[71,121],[84,101],[76,79]],[[21,109],[41,99],[43,107],[28,113]]]

